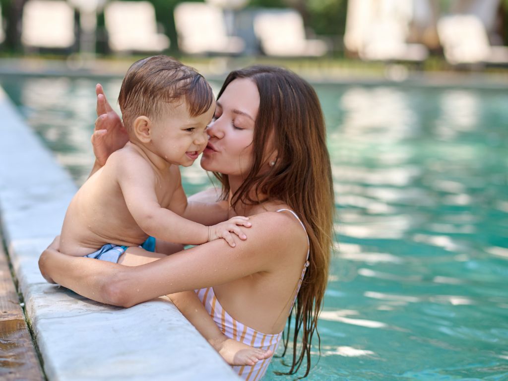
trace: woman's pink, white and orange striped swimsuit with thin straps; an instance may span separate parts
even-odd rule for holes
[[[305,230],[305,226],[302,224],[302,221],[296,213],[289,209],[279,209],[277,212],[281,212],[283,210],[287,210],[291,212],[302,225]],[[307,236],[308,242],[308,236]],[[298,295],[298,291],[300,290],[300,285],[302,284],[303,277],[305,275],[305,270],[309,266],[309,250],[307,250],[307,260],[305,262],[305,266],[302,270],[302,275],[298,280],[298,284],[296,287],[295,299],[293,300],[293,304],[295,304],[296,296]],[[198,298],[201,300],[201,303],[205,306],[206,310],[212,317],[213,321],[217,325],[217,327],[222,331],[227,337],[230,339],[234,339],[240,342],[243,342],[247,345],[254,346],[257,348],[261,348],[263,350],[272,350],[273,353],[277,350],[277,346],[280,338],[282,337],[282,332],[269,335],[266,333],[262,333],[247,327],[240,323],[239,321],[233,319],[233,317],[220,305],[219,301],[215,297],[213,292],[213,288],[208,287],[206,289],[195,290],[198,294]],[[293,306],[292,306],[293,307]],[[233,370],[238,372],[238,374],[247,381],[258,381],[263,377],[270,364],[271,357],[269,359],[265,359],[259,361],[254,366],[233,366]]]

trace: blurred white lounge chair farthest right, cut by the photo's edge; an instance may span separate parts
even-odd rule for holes
[[[437,34],[444,58],[452,65],[473,63],[508,63],[508,47],[491,46],[484,25],[477,16],[441,17]]]

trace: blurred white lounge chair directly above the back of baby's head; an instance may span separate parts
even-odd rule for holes
[[[108,44],[117,53],[161,52],[169,38],[157,32],[155,9],[149,2],[113,1],[104,9]]]

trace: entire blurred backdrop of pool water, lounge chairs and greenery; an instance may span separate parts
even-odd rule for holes
[[[336,195],[308,379],[508,380],[508,0],[0,4],[0,86],[77,185],[94,86],[118,110],[138,58],[176,56],[215,93],[251,63],[308,79]],[[181,173],[210,186],[199,161]]]

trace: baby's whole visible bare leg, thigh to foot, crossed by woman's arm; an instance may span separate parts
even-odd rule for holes
[[[159,249],[157,242],[157,249]],[[150,252],[141,247],[129,247],[118,260],[125,266],[140,266],[166,257],[165,254]],[[226,337],[218,329],[194,291],[168,295],[183,316],[198,330],[220,356],[230,365],[255,365],[259,360],[273,355],[247,344]]]

